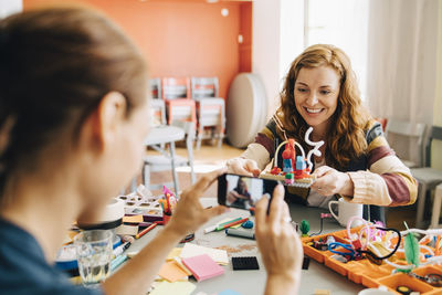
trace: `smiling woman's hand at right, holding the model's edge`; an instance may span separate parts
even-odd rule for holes
[[[340,193],[343,196],[354,196],[354,183],[348,173],[339,172],[328,166],[322,166],[313,173],[316,181],[312,185],[312,189],[323,196],[333,196]]]

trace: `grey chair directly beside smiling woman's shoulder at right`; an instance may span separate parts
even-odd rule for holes
[[[391,135],[399,135],[400,137],[407,137],[413,140],[413,143],[417,144],[417,157],[407,157],[408,159],[404,159],[402,155],[398,155],[399,158],[404,160],[407,166],[411,167],[422,167],[423,166],[423,140],[425,136],[425,129],[427,125],[424,123],[411,123],[411,122],[404,122],[404,120],[398,120],[398,119],[388,119],[387,126],[386,126],[386,138],[387,140],[391,144],[393,143],[391,140]],[[399,150],[399,147],[393,149]],[[414,164],[413,161],[417,160]],[[411,168],[410,167],[410,168]]]

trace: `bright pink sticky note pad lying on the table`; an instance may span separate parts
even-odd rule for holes
[[[208,254],[182,259],[182,264],[192,272],[198,282],[204,281],[224,273]]]

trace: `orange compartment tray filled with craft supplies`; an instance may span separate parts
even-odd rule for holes
[[[352,229],[351,234],[360,229],[361,226]],[[319,263],[325,264],[327,267],[334,270],[340,275],[348,277],[348,280],[351,282],[361,284],[366,287],[379,287],[380,285],[383,285],[389,291],[396,294],[401,294],[397,291],[397,288],[399,286],[406,286],[412,292],[419,292],[421,295],[442,294],[442,281],[438,285],[431,285],[423,280],[419,280],[406,273],[392,273],[394,266],[386,263],[378,265],[367,259],[367,256],[364,256],[360,260],[349,260],[348,262],[344,263],[336,260],[334,253],[332,253],[328,249],[323,251],[312,245],[314,242],[327,241],[328,236],[333,236],[338,243],[350,243],[348,240],[347,230],[302,238],[304,254]],[[390,259],[390,261],[394,261],[397,264],[407,264],[403,252],[397,252]],[[442,265],[420,266],[414,268],[412,273],[422,277],[434,274],[441,275],[442,277]]]

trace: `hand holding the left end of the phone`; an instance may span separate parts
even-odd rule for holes
[[[225,173],[225,168],[204,175],[197,183],[186,189],[181,193],[177,208],[172,212],[172,218],[165,230],[171,230],[185,236],[188,233],[194,232],[209,219],[227,212],[229,209],[224,206],[203,209],[199,200],[202,193],[222,173]]]

